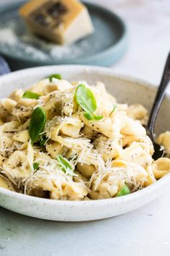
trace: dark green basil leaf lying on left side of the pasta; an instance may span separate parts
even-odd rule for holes
[[[32,112],[30,126],[28,128],[32,144],[40,140],[40,133],[43,131],[45,127],[45,122],[45,111],[40,107],[35,108],[35,110]]]

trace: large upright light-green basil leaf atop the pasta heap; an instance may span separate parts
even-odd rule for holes
[[[86,117],[86,119],[100,120],[103,118],[103,116],[94,115],[94,111],[97,110],[97,102],[91,90],[86,88],[84,84],[79,85],[76,90],[76,103],[85,111],[84,117]]]

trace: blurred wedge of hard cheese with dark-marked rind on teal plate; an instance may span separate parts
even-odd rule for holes
[[[61,44],[93,33],[89,12],[76,0],[31,0],[19,9],[33,33]]]

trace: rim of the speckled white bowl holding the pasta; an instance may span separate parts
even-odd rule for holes
[[[101,72],[102,74],[107,74],[110,77],[117,77],[120,80],[126,80],[128,82],[135,82],[138,85],[143,86],[144,88],[150,88],[150,90],[154,90],[156,91],[156,86],[151,84],[150,82],[146,82],[145,80],[139,80],[138,78],[135,77],[129,77],[129,76],[124,76],[124,75],[120,75],[120,74],[115,74],[112,69],[106,68],[106,67],[94,67],[94,66],[84,66],[84,65],[53,65],[53,66],[43,66],[43,67],[35,67],[35,68],[29,68],[29,69],[22,69],[19,70],[17,72],[12,72],[9,74],[5,74],[4,76],[0,77],[0,86],[1,84],[3,84],[3,82],[8,82],[10,80],[12,80],[12,77],[15,76],[16,80],[19,77],[22,77],[23,74],[25,74],[26,76],[28,74],[34,75],[37,73],[42,73],[43,74],[43,70],[47,71],[47,69],[51,69],[54,68],[58,69],[58,67],[60,67],[61,69],[80,69],[80,70],[84,70],[88,72],[88,70],[90,72]],[[167,93],[167,97],[170,101],[170,93]],[[0,195],[6,195],[9,197],[18,197],[19,200],[21,201],[27,201],[27,202],[36,202],[39,205],[45,204],[45,205],[68,205],[68,206],[73,206],[73,207],[91,207],[92,205],[101,205],[104,206],[108,204],[112,204],[113,202],[115,203],[119,203],[122,201],[126,201],[126,202],[131,202],[133,200],[135,200],[136,198],[140,198],[143,197],[144,195],[146,195],[148,192],[157,192],[159,189],[161,189],[161,187],[164,187],[164,185],[168,184],[168,182],[170,183],[170,174],[166,174],[166,176],[162,177],[161,179],[159,179],[157,182],[155,182],[154,184],[149,185],[148,187],[145,187],[141,190],[138,190],[137,192],[133,192],[130,195],[125,195],[123,197],[113,197],[113,198],[108,198],[108,199],[101,199],[101,200],[82,200],[82,201],[73,201],[73,200],[51,200],[51,199],[46,199],[46,198],[41,198],[41,197],[32,197],[30,195],[24,195],[24,194],[19,194],[18,192],[12,192],[9,191],[7,189],[1,188],[0,187]]]

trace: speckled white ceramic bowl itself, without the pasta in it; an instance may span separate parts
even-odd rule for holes
[[[6,97],[14,88],[27,88],[33,82],[60,73],[66,80],[102,81],[120,103],[142,103],[151,108],[156,89],[147,82],[113,74],[112,69],[86,66],[48,66],[24,69],[0,78],[0,95]],[[166,96],[156,121],[156,133],[170,129],[170,97]],[[170,174],[155,184],[124,197],[105,200],[63,201],[22,195],[0,188],[0,205],[16,213],[53,221],[91,221],[109,218],[140,208],[164,192]]]

